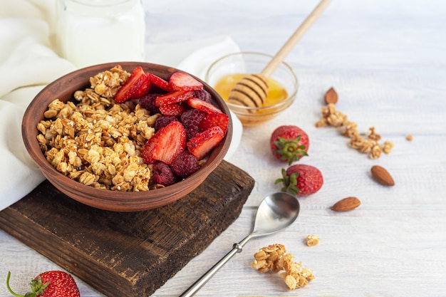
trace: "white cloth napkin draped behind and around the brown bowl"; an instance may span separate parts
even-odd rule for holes
[[[45,85],[76,70],[51,47],[54,5],[55,0],[1,0],[0,210],[24,197],[44,179],[21,138],[21,120],[26,107]],[[227,36],[175,46],[158,44],[146,49],[147,62],[173,66],[202,79],[212,61],[239,51]],[[234,122],[237,132],[232,152],[242,131],[238,120]]]

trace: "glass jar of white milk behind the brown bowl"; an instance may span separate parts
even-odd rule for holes
[[[118,61],[144,61],[145,21],[141,0],[58,0],[56,46],[78,68]]]

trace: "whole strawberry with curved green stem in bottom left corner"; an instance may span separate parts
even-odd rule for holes
[[[31,292],[25,295],[14,293],[9,287],[9,278],[11,272],[8,272],[6,286],[9,292],[16,297],[80,297],[79,288],[74,281],[73,276],[63,271],[46,271],[40,273],[31,281]]]

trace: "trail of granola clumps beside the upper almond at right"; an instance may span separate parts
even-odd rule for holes
[[[321,108],[322,118],[316,123],[316,127],[343,127],[342,135],[350,138],[350,145],[358,152],[368,154],[370,159],[378,159],[381,154],[389,154],[393,148],[393,142],[385,141],[380,145],[381,136],[370,127],[366,135],[358,132],[358,125],[348,120],[347,116],[336,110],[334,104],[328,104]]]

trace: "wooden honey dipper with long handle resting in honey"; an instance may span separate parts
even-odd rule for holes
[[[229,93],[228,102],[235,105],[245,105],[248,107],[259,107],[265,103],[268,95],[268,78],[280,65],[286,55],[294,48],[296,43],[304,36],[306,31],[321,16],[331,0],[321,0],[311,14],[309,14],[299,28],[286,41],[284,46],[269,61],[263,71],[259,74],[249,74],[242,78]]]

